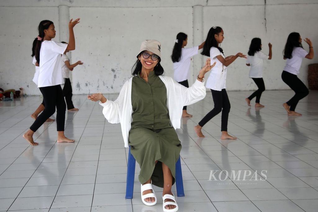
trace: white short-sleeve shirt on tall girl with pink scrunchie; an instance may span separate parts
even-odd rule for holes
[[[61,54],[64,53],[67,45],[52,40],[42,42],[38,87],[61,85],[64,83]]]

